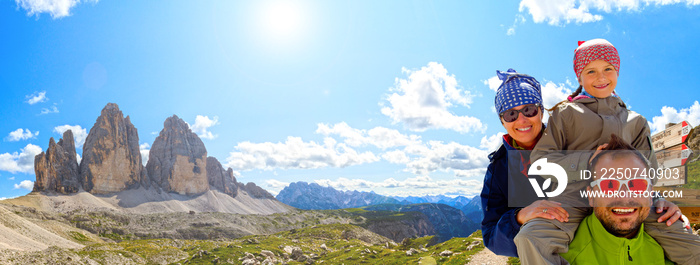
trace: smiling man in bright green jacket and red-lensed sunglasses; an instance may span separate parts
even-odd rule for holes
[[[593,214],[579,225],[569,251],[561,254],[564,259],[571,264],[673,264],[644,231],[652,205],[649,168],[639,151],[613,135],[590,163],[593,181],[587,191],[596,192],[588,197]]]

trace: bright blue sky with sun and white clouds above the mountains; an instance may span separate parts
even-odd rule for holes
[[[505,131],[496,70],[536,77],[550,107],[577,87],[577,41],[605,38],[653,131],[696,126],[698,32],[698,0],[3,1],[0,197],[31,190],[50,137],[72,129],[82,155],[109,102],[144,163],[176,114],[273,194],[474,196]]]

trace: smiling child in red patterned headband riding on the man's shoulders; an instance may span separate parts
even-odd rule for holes
[[[631,143],[649,159],[653,168],[657,167],[647,120],[628,110],[615,94],[619,70],[620,58],[610,42],[603,39],[579,42],[574,71],[580,86],[568,100],[552,108],[545,133],[531,158],[531,161],[547,158],[547,162],[557,163],[566,170],[566,190],[552,199],[568,206],[565,209],[569,220],[536,218],[525,223],[514,239],[523,264],[568,264],[558,253],[568,251],[578,224],[591,213],[587,198],[579,193],[589,181],[582,180],[579,174],[587,169],[594,150],[600,150],[611,134]],[[688,234],[681,222],[673,223],[681,215],[679,208],[663,199],[655,200],[655,206],[659,209],[644,221],[645,231],[658,241],[670,260],[698,264],[700,237]],[[668,212],[660,216],[662,208],[668,208]],[[666,219],[668,225],[673,225],[660,223]]]

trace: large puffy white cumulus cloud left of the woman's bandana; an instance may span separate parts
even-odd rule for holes
[[[442,64],[430,62],[420,70],[403,68],[402,72],[408,78],[396,78],[390,90],[394,93],[386,98],[390,106],[381,109],[394,123],[401,122],[414,131],[448,129],[467,133],[486,129],[479,119],[457,116],[448,110],[453,104],[469,107],[474,96],[459,89],[455,76],[448,74]]]

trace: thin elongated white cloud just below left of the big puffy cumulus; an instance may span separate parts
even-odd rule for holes
[[[387,149],[398,146],[406,146],[417,144],[420,142],[420,136],[403,135],[397,130],[384,127],[375,127],[367,130],[354,129],[347,123],[341,122],[333,126],[327,124],[318,124],[316,133],[325,136],[339,135],[344,138],[344,142],[349,146],[358,147],[365,145],[373,145],[381,149]]]

